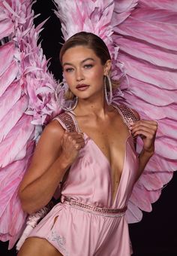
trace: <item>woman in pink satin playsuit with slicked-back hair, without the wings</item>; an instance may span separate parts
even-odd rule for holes
[[[154,153],[157,123],[111,104],[110,53],[98,36],[72,36],[60,59],[69,87],[66,97],[75,103],[40,137],[20,186],[24,211],[31,214],[49,203],[71,168],[61,203],[37,224],[18,255],[128,256],[127,201]],[[143,141],[139,157],[136,136]]]

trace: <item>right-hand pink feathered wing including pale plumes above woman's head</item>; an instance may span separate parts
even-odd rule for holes
[[[85,30],[100,35],[108,45],[113,58],[112,77],[124,77],[122,93],[115,92],[114,100],[122,102],[124,96],[142,119],[159,124],[156,152],[128,205],[128,221],[139,221],[139,209],[151,211],[151,203],[160,197],[163,185],[177,169],[177,1],[55,2],[65,39]],[[137,151],[141,148],[138,140]]]

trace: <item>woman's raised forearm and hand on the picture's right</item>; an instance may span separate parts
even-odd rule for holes
[[[154,154],[154,140],[157,133],[157,122],[151,120],[139,120],[130,126],[133,136],[140,136],[143,142],[142,151],[139,154],[138,178],[145,169],[148,160]]]

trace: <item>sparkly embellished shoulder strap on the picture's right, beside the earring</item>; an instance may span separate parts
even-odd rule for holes
[[[129,128],[132,123],[135,123],[136,121],[139,120],[138,117],[133,113],[133,111],[128,108],[124,104],[116,105],[113,104],[113,107],[117,109],[118,113],[121,114],[121,117],[124,120],[124,123],[127,125]]]

